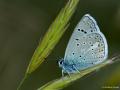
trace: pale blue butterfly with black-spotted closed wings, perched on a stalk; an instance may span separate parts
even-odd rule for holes
[[[58,62],[64,73],[81,70],[102,63],[108,57],[108,44],[95,19],[85,14],[75,27],[68,42],[65,56]]]

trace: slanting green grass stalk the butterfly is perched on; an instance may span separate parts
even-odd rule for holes
[[[112,60],[106,60],[105,62],[103,62],[101,64],[98,64],[94,67],[91,67],[91,68],[88,68],[86,70],[80,71],[80,73],[78,73],[78,74],[73,74],[73,75],[70,75],[70,76],[65,76],[63,78],[50,81],[50,82],[43,85],[42,87],[40,87],[37,90],[61,90],[64,87],[70,85],[72,82],[82,78],[83,76],[85,76],[85,75],[87,75],[87,74],[89,74],[93,71],[96,71],[96,70],[98,70],[98,69],[100,69],[100,68],[102,68],[102,67],[104,67],[108,64],[112,64],[112,63],[113,63]]]

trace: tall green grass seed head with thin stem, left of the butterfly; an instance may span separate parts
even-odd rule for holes
[[[79,0],[69,0],[66,6],[62,8],[55,21],[51,24],[42,41],[36,48],[26,70],[25,77],[21,81],[17,90],[20,89],[24,80],[41,65],[41,63],[51,53],[55,45],[58,43],[69,26],[69,20],[75,12],[78,2]]]

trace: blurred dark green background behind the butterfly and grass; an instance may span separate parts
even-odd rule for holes
[[[0,90],[16,90],[39,41],[66,2],[0,1]],[[96,19],[105,34],[109,58],[120,53],[120,0],[80,0],[70,27],[47,60],[25,81],[22,90],[36,90],[61,77],[57,62],[64,56],[74,27],[86,13]],[[83,77],[64,90],[109,90],[104,86],[120,86],[120,62]]]

